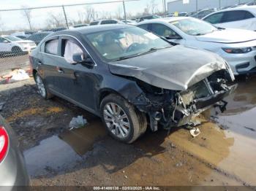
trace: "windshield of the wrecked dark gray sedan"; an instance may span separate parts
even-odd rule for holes
[[[170,47],[159,36],[138,27],[100,31],[86,34],[86,38],[107,61],[118,61]]]

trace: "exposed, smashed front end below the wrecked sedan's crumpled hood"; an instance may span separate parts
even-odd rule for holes
[[[136,80],[145,93],[139,99],[146,99],[148,103],[146,106],[136,106],[148,114],[153,131],[157,130],[159,124],[166,129],[193,125],[192,119],[211,106],[225,111],[227,103],[223,98],[236,89],[236,85],[227,85],[231,80],[225,69],[216,71],[184,91],[165,90]]]

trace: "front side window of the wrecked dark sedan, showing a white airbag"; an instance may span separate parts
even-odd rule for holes
[[[73,61],[73,55],[75,53],[83,53],[82,48],[71,39],[63,39],[61,49],[61,56],[63,56],[68,63],[75,63],[75,61]]]

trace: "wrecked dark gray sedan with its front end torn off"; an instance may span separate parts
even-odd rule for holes
[[[132,143],[147,128],[193,123],[211,106],[225,109],[234,86],[218,55],[135,26],[90,26],[50,34],[30,55],[43,98],[57,95],[99,117],[113,138]]]

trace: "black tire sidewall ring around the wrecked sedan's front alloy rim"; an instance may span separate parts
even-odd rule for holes
[[[111,97],[111,98],[108,96],[108,97],[104,98],[102,100],[102,103],[100,104],[100,114],[101,114],[102,122],[104,123],[105,128],[107,128],[108,133],[110,134],[110,136],[112,136],[113,139],[116,139],[118,141],[129,143],[129,141],[132,140],[133,134],[134,134],[134,125],[133,125],[134,121],[132,120],[132,117],[131,117],[131,114],[130,114],[130,111],[129,111],[129,106],[127,105],[126,102],[127,101],[125,101],[124,98],[121,98],[120,96],[113,95],[113,97]],[[113,133],[110,131],[110,129],[108,128],[108,125],[105,122],[104,107],[105,107],[106,104],[109,104],[109,103],[118,104],[118,106],[121,106],[121,109],[123,109],[124,112],[127,114],[127,117],[128,117],[128,120],[129,120],[130,130],[129,130],[128,136],[124,139],[121,139],[121,138],[113,135]]]

